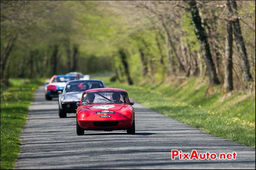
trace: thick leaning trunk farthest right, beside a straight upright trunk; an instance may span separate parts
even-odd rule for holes
[[[232,29],[234,31],[234,38],[236,41],[237,51],[241,58],[241,67],[242,67],[242,78],[244,82],[252,81],[252,75],[250,73],[250,65],[248,62],[248,57],[246,53],[246,48],[244,45],[244,39],[241,32],[241,27],[237,14],[237,5],[236,1],[227,1],[227,7],[229,13],[232,15]]]

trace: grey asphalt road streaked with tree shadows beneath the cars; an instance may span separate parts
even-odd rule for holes
[[[21,133],[17,169],[255,169],[255,150],[177,122],[135,103],[136,135],[85,131],[76,135],[75,114],[59,118],[57,99],[35,94]],[[171,150],[230,153],[236,160],[171,160]]]

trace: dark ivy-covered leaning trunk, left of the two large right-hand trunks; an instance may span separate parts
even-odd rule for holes
[[[212,60],[212,55],[210,52],[210,46],[207,41],[207,36],[204,27],[202,26],[202,21],[201,17],[199,15],[198,8],[196,6],[196,1],[188,1],[188,4],[190,6],[191,10],[191,15],[192,19],[195,25],[195,33],[200,41],[201,45],[203,46],[203,56],[204,56],[204,61],[207,67],[208,71],[208,76],[210,79],[210,85],[212,84],[220,84],[220,81],[217,77],[215,65]]]

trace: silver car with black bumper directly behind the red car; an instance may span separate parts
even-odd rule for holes
[[[105,84],[101,80],[75,80],[68,81],[59,94],[59,116],[67,117],[67,113],[76,113],[76,103],[80,102],[82,94],[85,90],[105,88]]]

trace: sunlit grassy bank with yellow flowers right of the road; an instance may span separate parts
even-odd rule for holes
[[[223,98],[221,87],[207,90],[202,78],[127,85],[102,79],[108,87],[127,90],[129,97],[163,115],[255,148],[255,91],[233,92]],[[138,84],[138,83],[137,83]]]

